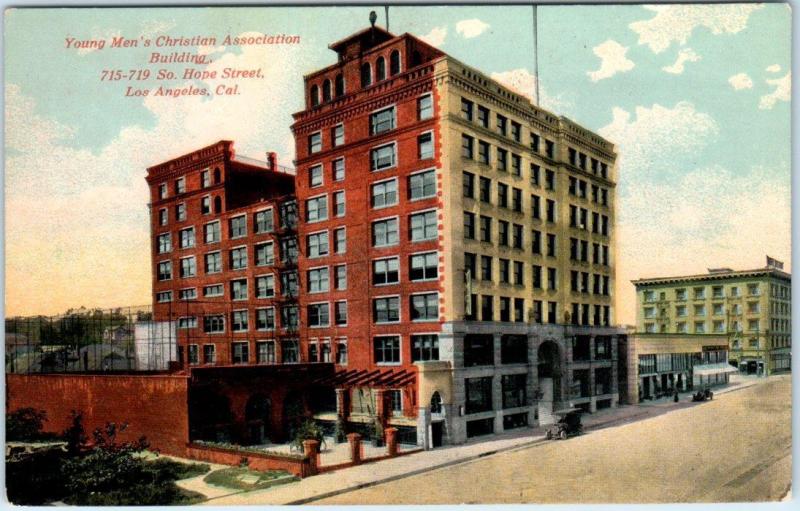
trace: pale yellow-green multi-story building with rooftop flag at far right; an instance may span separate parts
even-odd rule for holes
[[[637,331],[724,335],[730,360],[748,374],[791,368],[792,276],[767,258],[754,270],[633,281]]]

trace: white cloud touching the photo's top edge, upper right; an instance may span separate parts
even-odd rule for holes
[[[747,27],[750,15],[762,7],[759,4],[648,5],[644,8],[655,15],[628,27],[639,34],[639,44],[661,53],[673,42],[686,44],[698,27],[705,27],[714,35],[741,32]]]

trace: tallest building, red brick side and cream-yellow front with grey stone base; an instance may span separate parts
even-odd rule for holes
[[[301,356],[339,416],[438,445],[615,406],[612,144],[409,34],[330,48],[293,131]]]

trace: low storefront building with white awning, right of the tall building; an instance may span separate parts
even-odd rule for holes
[[[628,336],[627,402],[672,396],[728,383],[728,337],[703,334]]]

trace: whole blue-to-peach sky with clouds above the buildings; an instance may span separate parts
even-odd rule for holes
[[[220,139],[291,164],[302,75],[383,7],[17,9],[5,12],[5,311],[143,305],[150,295],[146,168]],[[532,94],[530,6],[391,7],[409,32]],[[630,280],[791,260],[791,13],[784,4],[540,6],[541,104],[616,144],[616,319]],[[297,35],[223,45],[226,35]],[[111,48],[213,36],[191,48]],[[76,48],[67,40],[104,40]],[[262,68],[238,95],[126,97],[155,89],[153,51],[191,51],[221,73]],[[148,81],[101,80],[149,69]],[[106,74],[108,77],[109,74]],[[214,90],[222,79],[206,80]],[[163,82],[201,86],[199,80]]]

